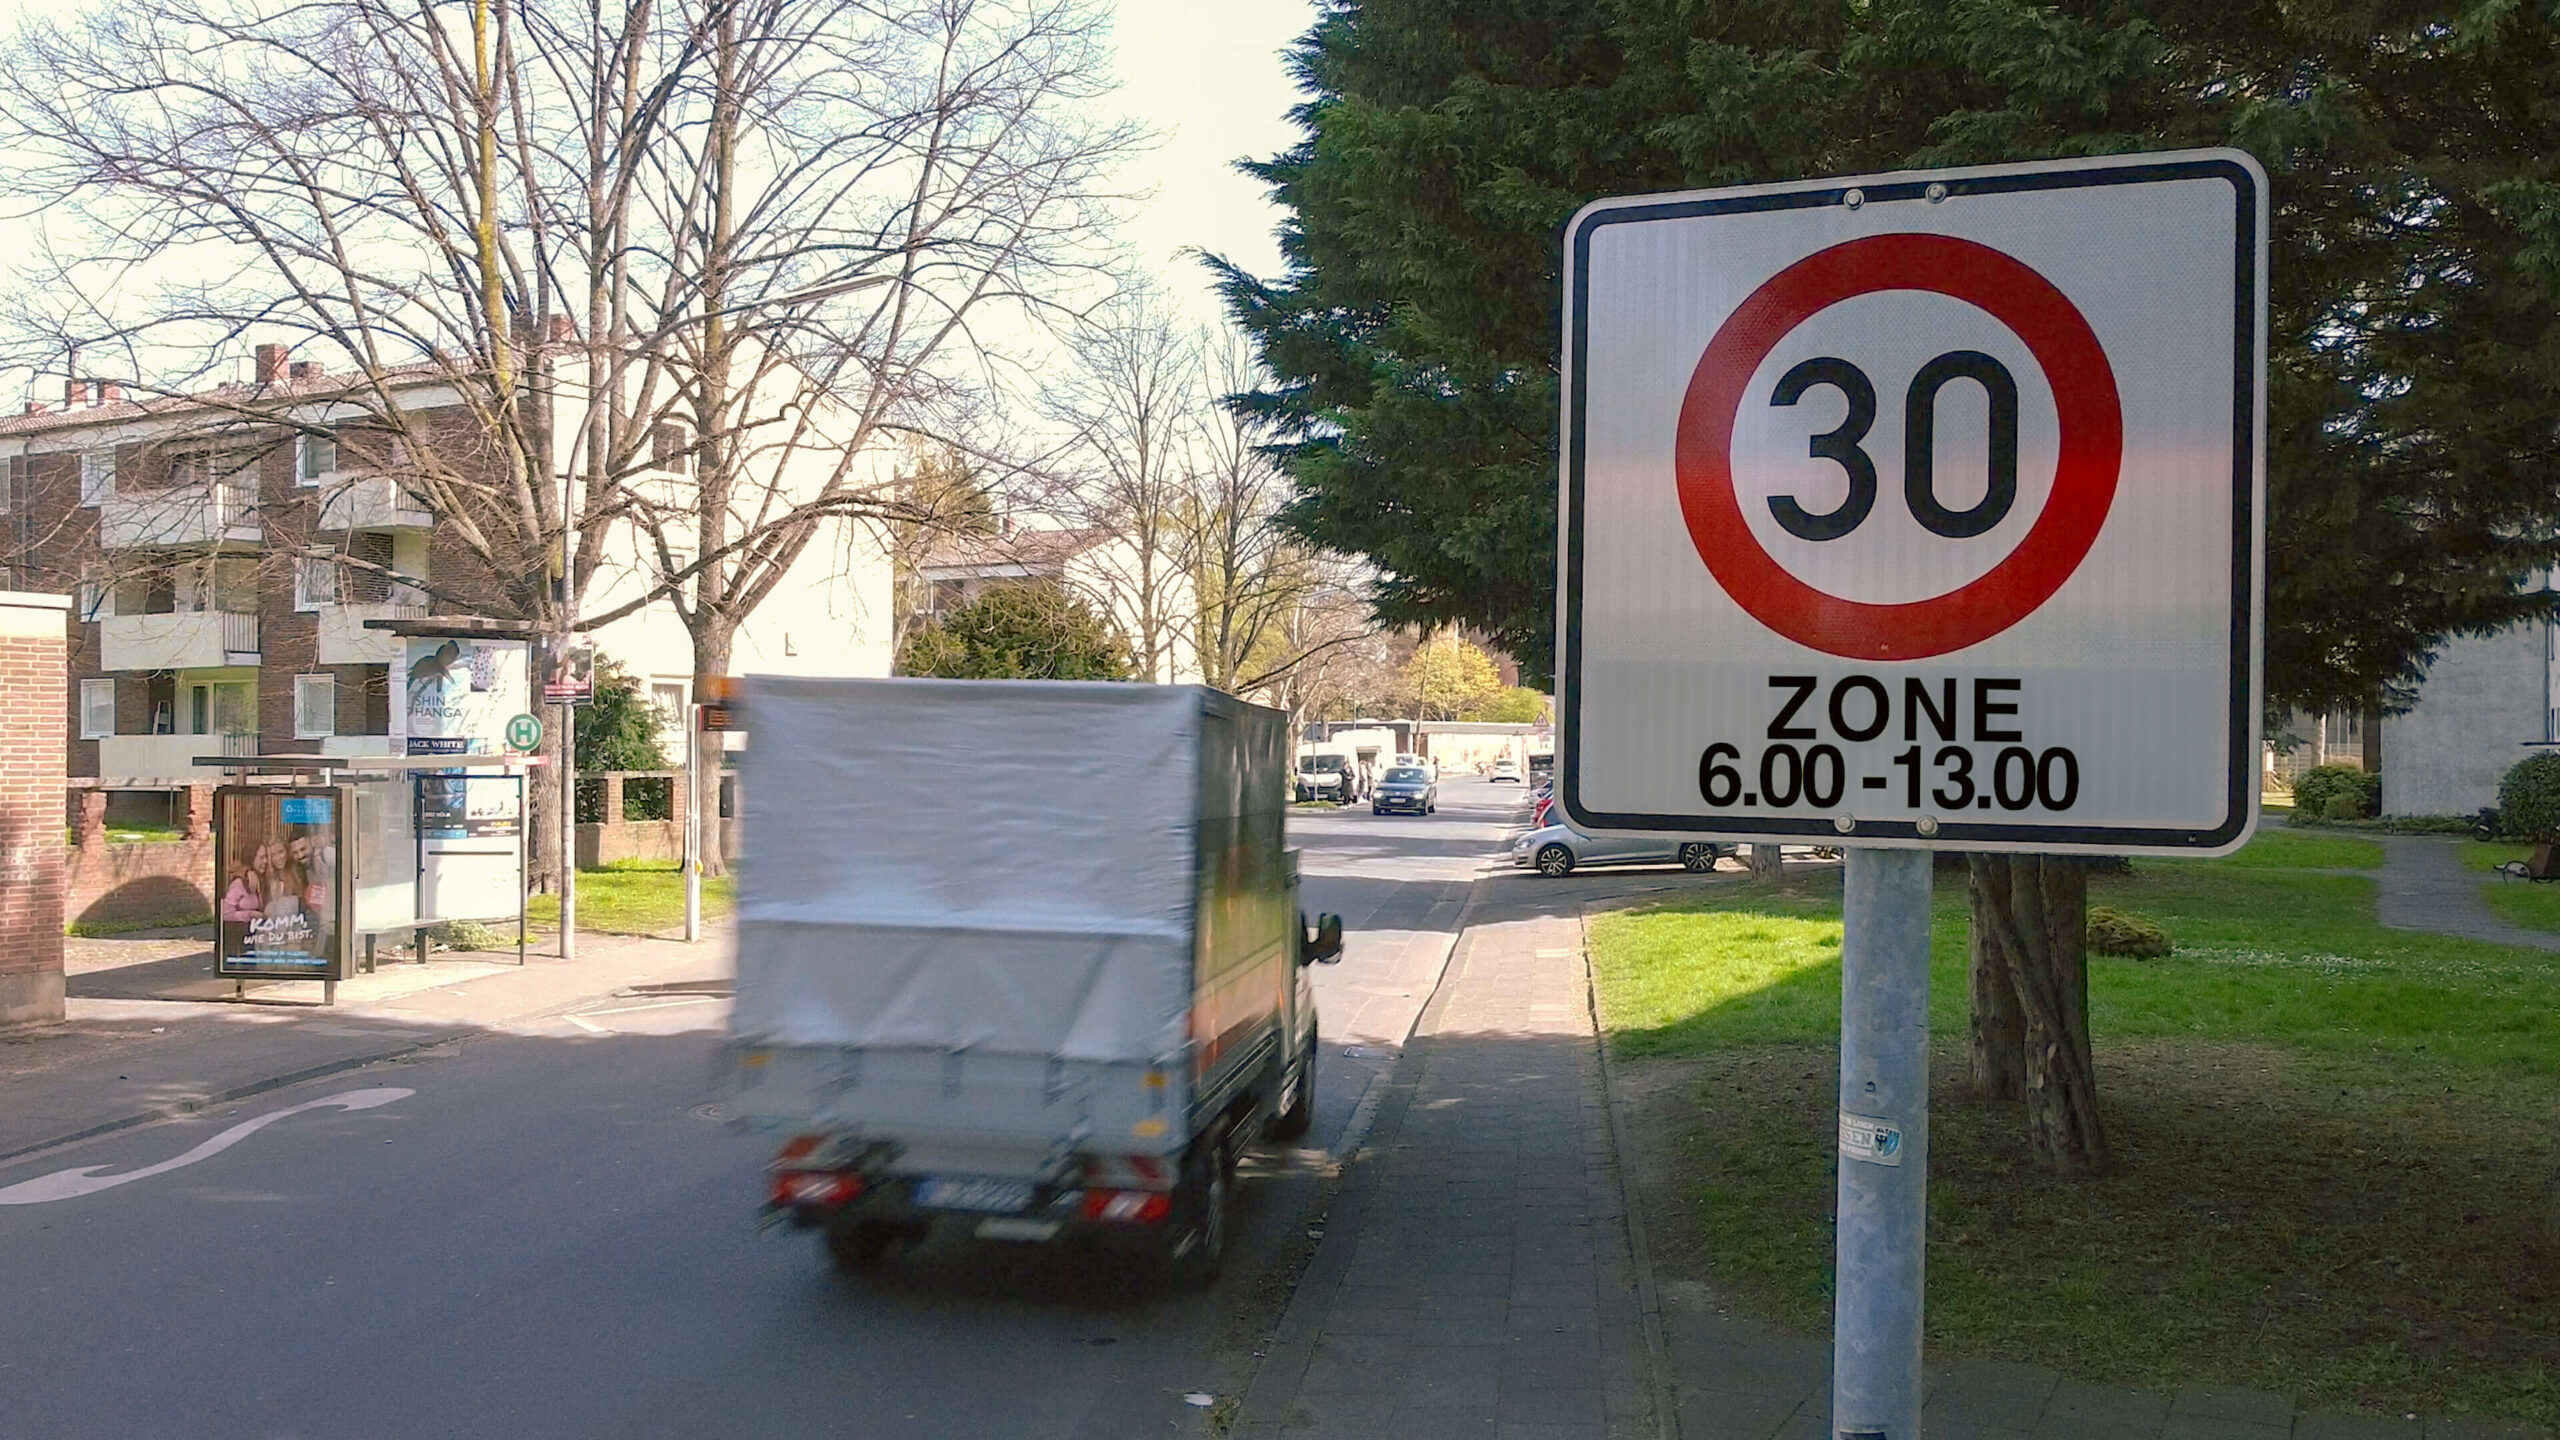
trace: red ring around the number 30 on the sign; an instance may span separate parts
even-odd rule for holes
[[[1761,361],[1815,313],[1879,290],[1964,300],[2015,331],[2043,366],[2061,423],[2053,492],[2017,548],[1969,584],[1905,605],[1805,584],[1761,548],[1733,492],[1733,418]],[[1953,236],[1869,236],[1789,264],[1725,318],[1690,374],[1672,456],[1697,556],[1761,625],[1843,659],[1917,661],[1989,641],[2071,579],[2115,502],[2125,413],[2107,351],[2051,279]]]

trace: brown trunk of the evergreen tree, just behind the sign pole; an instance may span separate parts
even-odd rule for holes
[[[1976,856],[1976,966],[1997,958],[2017,997],[2028,1138],[2056,1174],[2107,1163],[2089,1053],[2089,871],[2063,856]],[[1976,994],[1979,994],[1976,981]]]

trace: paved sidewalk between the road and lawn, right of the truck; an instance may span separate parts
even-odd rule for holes
[[[1449,958],[1236,1417],[1247,1437],[1654,1437],[1582,928]]]

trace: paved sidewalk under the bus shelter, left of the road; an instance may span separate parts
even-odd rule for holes
[[[74,994],[64,1025],[0,1030],[0,1161],[522,1027],[617,989],[727,976],[730,953],[727,928],[699,945],[581,933],[573,961],[517,966],[509,948],[502,963],[445,951],[384,963],[343,981],[333,1007],[317,1004],[317,984],[266,986],[248,1004]]]

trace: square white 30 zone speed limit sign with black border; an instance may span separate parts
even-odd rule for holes
[[[2248,840],[2253,159],[1638,195],[1587,205],[1564,249],[1577,828]]]

